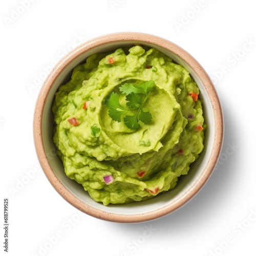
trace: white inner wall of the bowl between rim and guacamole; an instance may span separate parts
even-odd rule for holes
[[[203,101],[203,111],[204,111],[204,117],[205,117],[205,123],[207,124],[207,129],[205,130],[205,141],[204,141],[204,150],[200,154],[199,159],[190,165],[190,170],[187,175],[181,176],[179,178],[179,182],[177,186],[167,191],[166,193],[163,193],[161,195],[158,195],[157,197],[146,200],[143,202],[134,202],[129,204],[121,204],[121,205],[113,205],[110,204],[108,206],[104,206],[101,203],[95,202],[85,191],[82,187],[82,185],[78,184],[77,182],[71,180],[68,178],[64,172],[63,164],[61,160],[58,158],[56,154],[54,154],[55,151],[55,145],[53,143],[53,114],[52,114],[52,104],[54,101],[54,94],[58,90],[59,86],[61,84],[66,83],[72,74],[72,71],[75,66],[79,65],[80,63],[84,63],[88,56],[92,55],[93,53],[98,52],[109,52],[116,50],[118,48],[122,47],[129,47],[134,45],[135,41],[120,41],[120,42],[111,42],[107,45],[99,46],[95,49],[91,49],[79,57],[77,57],[75,60],[73,60],[70,65],[68,65],[65,70],[62,71],[62,73],[58,76],[58,78],[55,80],[45,103],[44,111],[42,113],[42,140],[44,143],[45,151],[48,156],[48,161],[53,169],[53,172],[57,176],[57,178],[60,180],[60,182],[80,201],[94,207],[97,209],[100,209],[105,212],[111,212],[114,214],[125,214],[125,215],[134,215],[134,214],[143,214],[148,211],[157,210],[159,208],[162,208],[170,203],[173,203],[177,199],[179,199],[182,196],[185,196],[186,194],[189,194],[191,189],[196,184],[196,181],[200,177],[200,175],[203,173],[203,170],[208,162],[208,159],[210,157],[210,153],[214,144],[214,132],[215,132],[215,120],[214,120],[214,112],[212,109],[212,105],[208,96],[208,93],[206,89],[203,86],[202,81],[199,79],[199,77],[196,75],[196,73],[187,65],[187,63],[182,60],[177,55],[169,52],[166,49],[163,49],[159,46],[155,46],[153,44],[145,44],[141,42],[137,42],[138,44],[153,47],[157,50],[163,52],[170,58],[172,58],[176,63],[179,63],[181,66],[186,68],[190,75],[194,78],[196,83],[198,84],[198,87],[200,89],[200,97]]]

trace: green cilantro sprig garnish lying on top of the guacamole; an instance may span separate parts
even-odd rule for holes
[[[139,121],[144,124],[150,124],[152,121],[152,114],[150,112],[144,112],[143,106],[148,98],[150,92],[156,86],[155,82],[150,80],[140,84],[139,86],[133,86],[132,83],[124,83],[120,86],[119,90],[122,94],[126,94],[126,107],[122,106],[119,102],[119,95],[112,93],[106,105],[109,107],[109,116],[118,122],[121,122],[123,115],[124,124],[131,130],[139,128]],[[126,115],[131,111],[135,111],[135,115]]]

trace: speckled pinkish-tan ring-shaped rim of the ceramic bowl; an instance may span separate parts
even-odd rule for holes
[[[192,189],[190,189],[189,193],[181,196],[176,201],[169,203],[159,209],[149,211],[143,214],[142,213],[132,214],[132,215],[114,214],[111,212],[102,211],[84,202],[81,202],[55,176],[50,166],[50,163],[47,159],[44,144],[42,141],[42,130],[41,130],[42,129],[42,123],[41,123],[42,113],[44,110],[48,93],[52,88],[53,83],[59,76],[59,74],[75,58],[77,58],[84,52],[104,44],[118,42],[118,41],[135,41],[137,43],[139,41],[141,43],[153,44],[176,54],[195,71],[199,79],[204,84],[204,87],[210,98],[212,109],[214,112],[214,119],[215,119],[214,145],[212,147],[208,162],[202,174],[194,183],[194,186],[192,187]],[[90,216],[96,217],[98,219],[103,219],[103,220],[112,221],[112,222],[119,222],[119,223],[139,223],[139,222],[151,221],[151,220],[158,219],[160,217],[164,217],[174,212],[175,210],[179,209],[183,205],[185,205],[188,201],[193,199],[199,193],[199,191],[202,189],[202,187],[210,178],[212,172],[214,172],[214,169],[220,157],[221,148],[223,144],[223,137],[224,137],[224,119],[223,119],[221,102],[216,92],[216,89],[214,87],[214,84],[210,80],[206,71],[203,69],[203,67],[199,64],[199,62],[194,57],[192,57],[189,53],[187,53],[181,47],[177,46],[173,42],[170,42],[164,38],[151,35],[151,34],[138,33],[138,32],[121,32],[121,33],[106,34],[103,36],[93,38],[87,42],[84,42],[83,44],[81,44],[80,46],[72,50],[70,53],[68,53],[65,57],[63,57],[57,63],[57,65],[52,69],[52,71],[46,78],[38,94],[38,98],[35,104],[35,111],[34,111],[33,137],[34,137],[36,154],[37,154],[39,163],[42,167],[42,170],[44,170],[44,173],[47,179],[50,181],[52,186],[55,188],[55,190],[60,194],[60,196],[63,199],[68,201],[71,205],[81,210],[82,212]]]

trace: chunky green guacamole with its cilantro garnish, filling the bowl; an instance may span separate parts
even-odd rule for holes
[[[104,205],[173,189],[203,150],[198,95],[188,71],[156,49],[91,55],[53,104],[66,175]]]

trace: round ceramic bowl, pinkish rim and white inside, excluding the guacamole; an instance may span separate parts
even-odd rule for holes
[[[190,165],[187,175],[177,186],[150,200],[104,206],[95,202],[82,185],[68,178],[53,143],[52,104],[59,86],[66,83],[74,67],[88,56],[140,44],[156,48],[186,68],[200,89],[207,129],[204,150]],[[223,113],[214,85],[200,64],[173,42],[143,33],[116,33],[97,37],[75,48],[63,57],[50,72],[39,93],[33,124],[34,143],[38,160],[56,191],[70,204],[93,217],[120,223],[145,222],[166,216],[191,200],[205,185],[218,162],[223,143]]]

